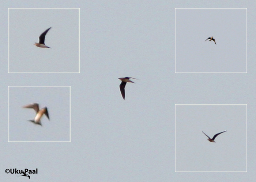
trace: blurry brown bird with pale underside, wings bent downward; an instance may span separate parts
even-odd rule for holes
[[[44,114],[46,115],[46,117],[48,118],[48,120],[50,120],[47,107],[41,108],[41,109],[39,110],[39,104],[38,104],[38,103],[33,103],[33,104],[25,105],[25,106],[23,106],[23,108],[33,108],[33,109],[35,110],[35,113],[36,113],[36,114],[35,114],[34,120],[29,120],[29,121],[31,121],[31,122],[33,122],[33,123],[35,123],[35,124],[39,124],[39,125],[42,126],[40,119],[42,118],[42,116],[43,116]]]

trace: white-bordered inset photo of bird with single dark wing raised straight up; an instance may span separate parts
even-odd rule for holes
[[[79,8],[8,8],[8,73],[79,73]]]

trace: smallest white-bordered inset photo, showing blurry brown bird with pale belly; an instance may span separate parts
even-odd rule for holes
[[[8,142],[70,142],[70,86],[8,86]]]

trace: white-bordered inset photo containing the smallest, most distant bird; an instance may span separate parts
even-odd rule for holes
[[[175,73],[247,73],[247,8],[175,8]]]

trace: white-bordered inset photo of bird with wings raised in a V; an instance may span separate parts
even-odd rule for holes
[[[175,104],[175,172],[247,172],[247,104]]]

